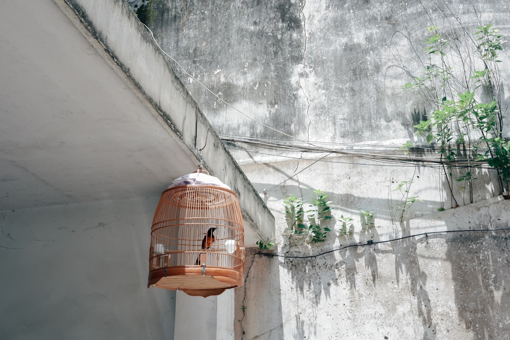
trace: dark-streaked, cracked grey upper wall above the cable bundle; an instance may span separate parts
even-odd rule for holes
[[[355,143],[412,135],[423,102],[400,87],[421,75],[427,27],[454,40],[492,21],[508,40],[507,13],[503,0],[151,0],[146,16],[186,72],[254,120],[304,141]],[[289,139],[173,65],[219,133]]]

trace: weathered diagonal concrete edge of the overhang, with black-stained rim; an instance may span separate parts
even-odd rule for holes
[[[103,45],[103,53],[110,55],[105,60],[110,59],[107,62],[113,68],[120,67],[130,77],[135,84],[133,90],[150,103],[162,124],[167,125],[169,135],[182,140],[182,147],[189,150],[197,165],[198,150],[203,148],[205,168],[239,196],[245,222],[252,229],[245,234],[246,245],[254,245],[259,238],[272,239],[274,217],[129,5],[124,0],[54,2],[64,13],[66,6],[74,11],[93,35],[84,34],[86,38],[97,39]],[[79,29],[83,32],[83,27]]]

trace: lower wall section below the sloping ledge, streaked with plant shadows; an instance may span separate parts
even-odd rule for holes
[[[507,338],[509,219],[510,201],[496,197],[311,247],[252,250],[235,338]]]

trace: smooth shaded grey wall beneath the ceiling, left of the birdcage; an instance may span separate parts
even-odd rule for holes
[[[147,289],[159,197],[0,213],[0,338],[173,339],[175,292]]]

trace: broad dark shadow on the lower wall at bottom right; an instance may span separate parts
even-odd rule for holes
[[[454,233],[447,239],[458,316],[474,339],[497,339],[510,331],[507,234]]]

